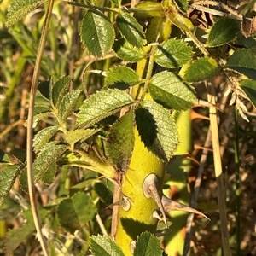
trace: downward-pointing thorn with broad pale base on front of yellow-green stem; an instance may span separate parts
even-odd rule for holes
[[[151,173],[149,174],[143,183],[143,193],[147,198],[153,198],[154,201],[156,202],[157,206],[160,209],[160,212],[163,215],[163,221],[166,225],[167,228],[167,223],[166,223],[166,213],[164,210],[164,207],[160,201],[160,196],[158,194],[158,190],[157,190],[157,183],[158,183],[158,179],[155,176],[155,174]]]

